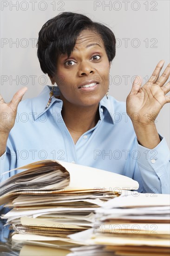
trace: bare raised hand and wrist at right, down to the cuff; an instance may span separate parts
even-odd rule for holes
[[[155,148],[160,142],[155,119],[163,105],[170,102],[170,64],[159,77],[164,61],[159,61],[149,81],[142,85],[142,79],[136,77],[126,100],[127,114],[131,118],[139,144],[146,148]],[[164,85],[165,84],[165,85]]]

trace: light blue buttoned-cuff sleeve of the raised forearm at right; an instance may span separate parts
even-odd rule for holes
[[[137,141],[140,155],[137,165],[146,192],[170,194],[170,151],[165,138],[159,137],[161,141],[153,149],[145,148]]]

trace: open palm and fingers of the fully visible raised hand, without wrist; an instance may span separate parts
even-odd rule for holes
[[[126,99],[126,111],[131,121],[139,125],[154,124],[154,121],[165,103],[170,102],[170,64],[159,77],[164,61],[159,61],[149,81],[142,85],[142,78],[136,77],[130,94]]]

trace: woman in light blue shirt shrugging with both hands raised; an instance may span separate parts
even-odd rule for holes
[[[44,24],[38,58],[52,86],[33,99],[21,101],[27,88],[8,104],[1,98],[3,171],[59,159],[129,176],[139,192],[169,193],[169,149],[154,121],[170,102],[170,68],[159,77],[160,61],[142,88],[137,77],[125,105],[108,95],[115,44],[108,27],[82,14],[60,13]]]

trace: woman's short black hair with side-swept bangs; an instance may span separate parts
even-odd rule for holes
[[[80,13],[63,12],[48,20],[39,31],[37,55],[41,70],[53,77],[60,54],[69,57],[82,30],[92,30],[104,42],[109,62],[116,54],[116,39],[110,28]]]

